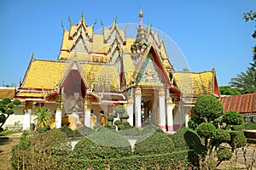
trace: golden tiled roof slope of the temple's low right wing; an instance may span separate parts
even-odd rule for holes
[[[213,72],[179,72],[172,73],[184,97],[198,97],[202,94],[213,94]]]

